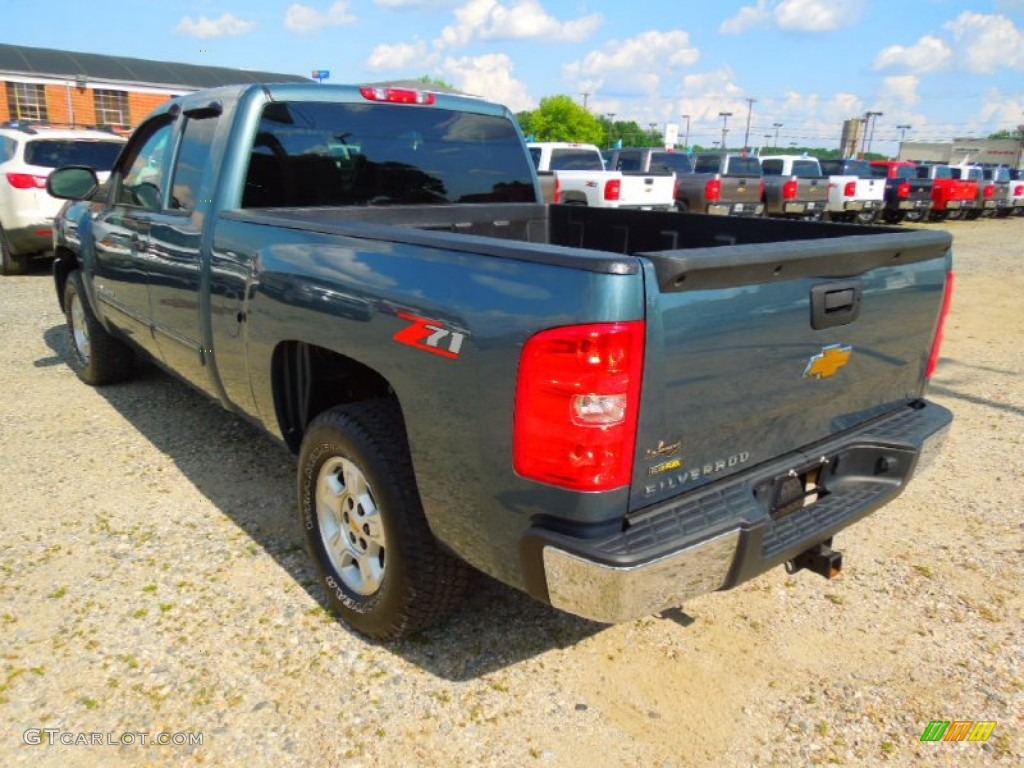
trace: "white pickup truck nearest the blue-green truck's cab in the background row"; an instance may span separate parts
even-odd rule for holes
[[[526,146],[538,173],[554,174],[554,184],[542,178],[548,203],[647,211],[676,206],[676,174],[671,171],[607,171],[595,144],[534,141]]]

